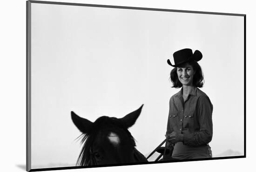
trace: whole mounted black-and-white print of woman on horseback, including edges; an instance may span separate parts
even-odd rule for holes
[[[245,14],[27,1],[27,171],[246,157]]]

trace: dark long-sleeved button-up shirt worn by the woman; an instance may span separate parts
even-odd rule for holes
[[[207,145],[213,134],[213,106],[209,97],[197,87],[189,93],[183,102],[183,89],[170,98],[169,116],[166,134],[183,134],[183,144],[187,146]]]

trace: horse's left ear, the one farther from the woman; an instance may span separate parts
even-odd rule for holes
[[[74,125],[83,133],[88,133],[93,125],[93,122],[88,119],[81,118],[73,111],[71,111],[71,119],[74,122]]]

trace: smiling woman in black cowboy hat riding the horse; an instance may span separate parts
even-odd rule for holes
[[[211,158],[213,106],[208,96],[198,89],[203,85],[202,69],[197,63],[202,53],[198,50],[192,53],[186,48],[173,56],[175,65],[167,61],[175,67],[170,73],[172,87],[182,89],[169,102],[167,146],[174,146],[171,156],[175,159]]]

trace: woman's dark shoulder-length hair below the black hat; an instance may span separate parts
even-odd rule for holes
[[[195,71],[194,79],[193,79],[193,85],[196,86],[196,87],[201,88],[203,86],[203,83],[204,83],[201,66],[195,60],[189,61],[188,64],[191,65],[193,67],[194,71]],[[182,87],[182,83],[178,79],[177,67],[175,67],[174,69],[171,70],[170,79],[173,83],[172,87],[174,87],[174,88]]]

